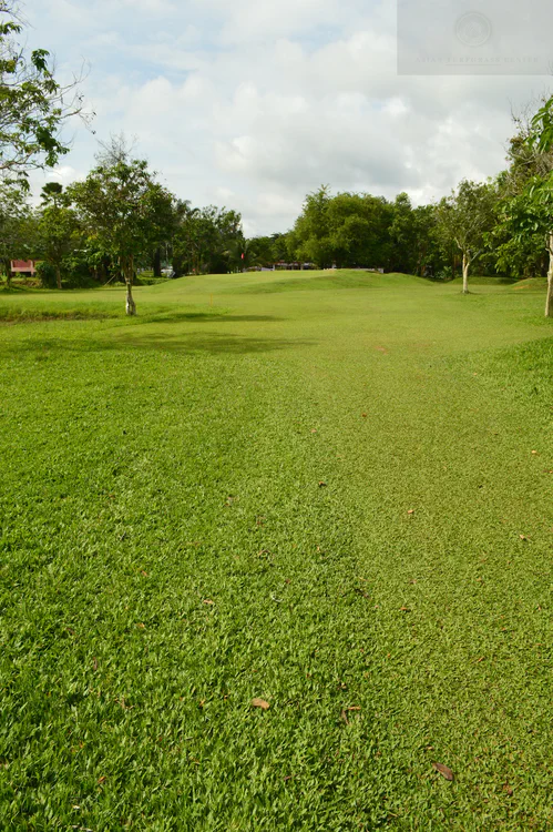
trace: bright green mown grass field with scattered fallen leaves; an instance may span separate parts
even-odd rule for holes
[[[459,288],[0,293],[1,830],[553,829],[553,324]]]

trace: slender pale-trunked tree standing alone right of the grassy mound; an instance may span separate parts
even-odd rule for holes
[[[485,234],[493,227],[496,201],[493,185],[463,180],[457,193],[438,205],[441,230],[462,254],[464,295],[469,294],[469,270],[484,251]]]

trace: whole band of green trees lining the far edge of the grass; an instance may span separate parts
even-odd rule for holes
[[[90,120],[79,92],[55,80],[45,50],[19,44],[21,23],[0,0],[0,260],[8,285],[12,260],[40,261],[44,285],[121,280],[135,314],[137,270],[173,276],[243,271],[275,263],[360,267],[433,280],[462,274],[463,292],[478,264],[484,274],[547,275],[545,314],[553,316],[553,98],[515,120],[506,168],[487,182],[463,180],[449,195],[413,206],[369,193],[306,196],[284,234],[244,235],[240,214],[194,207],[163,185],[124,139],[112,139],[83,182],[50,182],[40,204],[29,199],[29,172],[51,169],[68,152],[61,139],[71,116]]]

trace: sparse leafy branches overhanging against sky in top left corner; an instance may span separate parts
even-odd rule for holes
[[[0,174],[25,183],[29,170],[53,168],[68,153],[60,130],[83,115],[81,78],[63,87],[49,67],[49,52],[25,54],[22,26],[10,0],[0,0]]]

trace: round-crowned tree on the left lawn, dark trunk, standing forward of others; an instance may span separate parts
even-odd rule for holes
[[[91,236],[110,252],[126,284],[126,314],[135,315],[135,261],[147,255],[173,221],[173,197],[155,181],[147,162],[121,155],[100,158],[84,182],[68,189]]]

